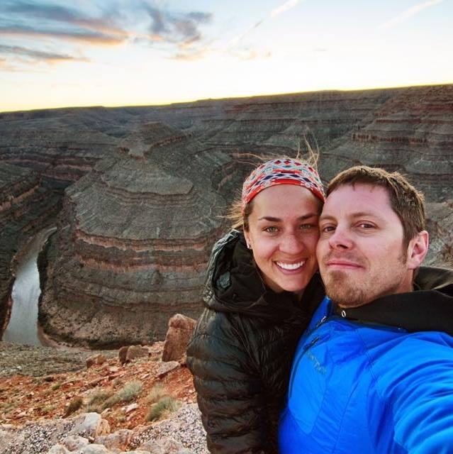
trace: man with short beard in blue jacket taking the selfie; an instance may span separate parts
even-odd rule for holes
[[[316,251],[328,297],[293,360],[282,454],[453,453],[453,279],[418,273],[427,247],[423,195],[400,174],[330,182]]]

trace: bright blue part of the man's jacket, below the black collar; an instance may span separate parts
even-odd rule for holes
[[[298,344],[280,453],[453,453],[453,338],[345,316],[326,297]]]

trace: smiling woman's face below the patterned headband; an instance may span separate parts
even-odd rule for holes
[[[275,292],[301,295],[318,270],[320,210],[320,200],[294,184],[263,189],[253,199],[245,239],[265,284]]]

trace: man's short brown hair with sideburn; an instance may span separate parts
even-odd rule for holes
[[[405,247],[417,233],[425,230],[425,197],[401,173],[357,165],[333,178],[328,185],[327,195],[340,186],[354,186],[357,183],[380,186],[387,190],[391,208],[403,225]]]

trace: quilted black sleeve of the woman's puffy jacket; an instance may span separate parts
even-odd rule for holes
[[[235,316],[205,309],[187,350],[211,453],[272,453],[264,393]]]

